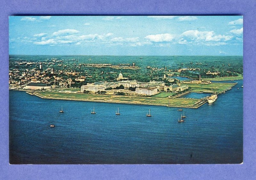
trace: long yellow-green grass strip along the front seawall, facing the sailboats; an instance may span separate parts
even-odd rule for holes
[[[128,103],[128,104],[148,104],[148,105],[167,105],[170,99],[171,106],[188,106],[200,100],[195,99],[172,99],[159,97],[136,97],[136,96],[114,96],[114,95],[98,95],[98,94],[69,94],[57,92],[36,92],[39,96],[53,99],[95,101],[95,102],[111,102],[111,103]]]

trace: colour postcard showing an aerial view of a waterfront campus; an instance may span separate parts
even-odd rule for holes
[[[10,16],[10,164],[240,164],[243,16]]]

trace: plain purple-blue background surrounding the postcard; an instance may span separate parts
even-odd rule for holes
[[[0,7],[0,179],[255,179],[255,0],[4,0]],[[243,15],[244,163],[214,165],[9,165],[8,16]],[[250,79],[249,79],[250,78]],[[250,84],[249,84],[250,82]]]

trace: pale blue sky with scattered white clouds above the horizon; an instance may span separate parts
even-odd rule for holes
[[[243,55],[243,16],[10,16],[9,54]]]

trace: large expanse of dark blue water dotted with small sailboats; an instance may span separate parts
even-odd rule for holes
[[[211,105],[183,108],[184,123],[177,122],[179,108],[50,100],[10,90],[10,163],[241,163],[243,81],[237,82]]]

